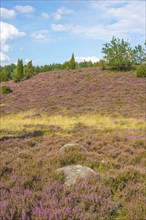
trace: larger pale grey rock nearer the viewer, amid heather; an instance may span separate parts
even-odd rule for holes
[[[65,185],[72,185],[79,179],[86,179],[91,175],[96,175],[95,171],[89,167],[81,165],[71,165],[57,169],[57,172],[63,172],[65,176]]]

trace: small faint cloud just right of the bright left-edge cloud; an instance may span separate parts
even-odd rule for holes
[[[39,30],[32,34],[32,38],[36,41],[48,41],[50,34],[48,30]]]

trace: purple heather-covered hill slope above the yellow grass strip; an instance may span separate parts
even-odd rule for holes
[[[1,95],[2,112],[37,109],[54,113],[120,113],[144,117],[145,80],[131,73],[98,68],[52,71],[19,83],[7,82],[12,93]]]

